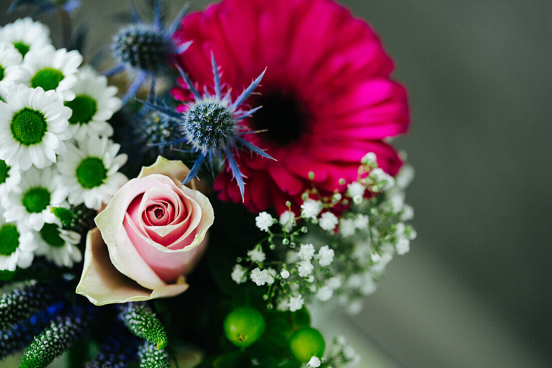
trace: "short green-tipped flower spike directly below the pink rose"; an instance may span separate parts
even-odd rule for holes
[[[137,337],[157,345],[157,349],[167,346],[168,338],[161,321],[144,302],[130,302],[121,307],[120,318],[126,327]]]

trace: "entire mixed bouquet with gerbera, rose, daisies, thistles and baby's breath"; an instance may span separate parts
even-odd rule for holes
[[[86,64],[79,5],[9,9],[59,16],[59,49],[31,18],[0,28],[0,359],[357,364],[309,310],[358,312],[416,236],[389,143],[407,96],[374,30],[332,0],[173,22],[155,0]]]

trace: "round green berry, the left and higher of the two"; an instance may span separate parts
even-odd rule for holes
[[[239,348],[246,348],[257,341],[265,327],[262,314],[248,307],[234,309],[224,320],[226,337]]]

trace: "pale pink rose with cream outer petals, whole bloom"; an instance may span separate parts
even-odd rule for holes
[[[213,207],[180,186],[181,161],[158,157],[115,193],[88,233],[77,293],[100,306],[178,295],[203,253]]]

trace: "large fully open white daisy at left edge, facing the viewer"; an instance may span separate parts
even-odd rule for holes
[[[0,159],[10,166],[39,169],[56,162],[66,151],[63,141],[71,109],[63,106],[55,92],[18,85],[0,102]]]

